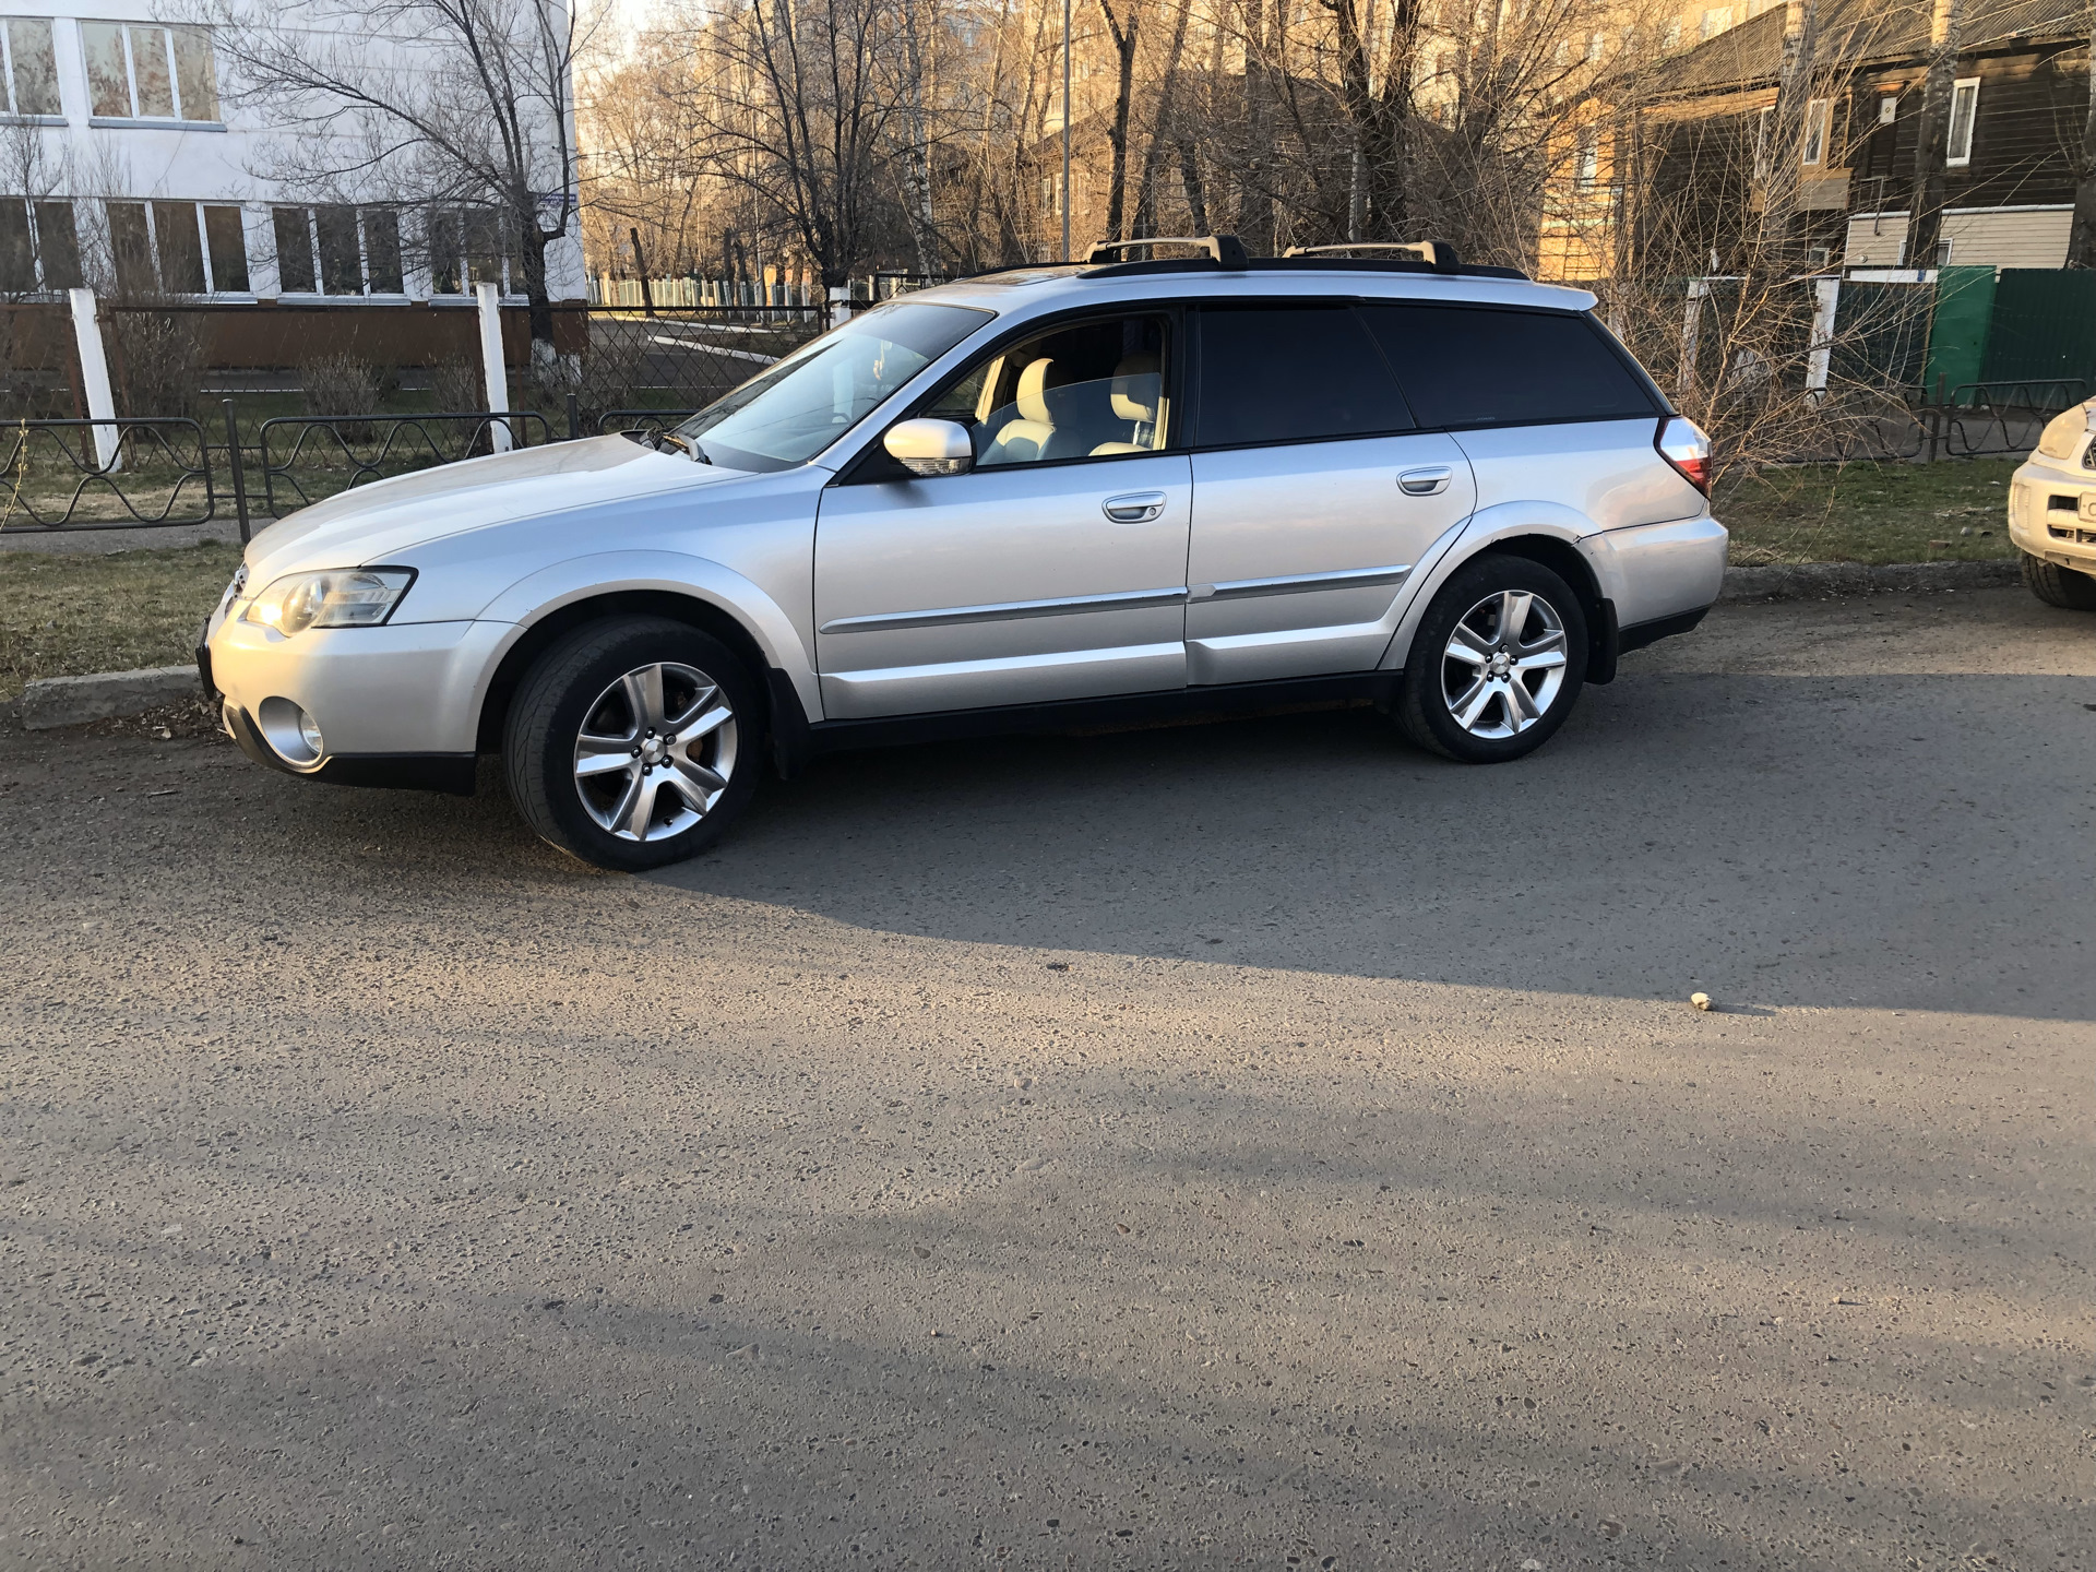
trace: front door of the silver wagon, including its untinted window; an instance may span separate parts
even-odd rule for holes
[[[1061,325],[918,411],[975,438],[960,476],[824,490],[824,715],[924,715],[1186,681],[1193,465],[1167,407],[1170,323]]]

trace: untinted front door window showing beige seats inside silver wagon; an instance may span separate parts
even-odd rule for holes
[[[1165,342],[1157,314],[1056,327],[983,361],[926,413],[970,428],[979,470],[1157,453],[1170,425]]]

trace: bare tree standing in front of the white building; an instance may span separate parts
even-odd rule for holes
[[[532,373],[555,384],[547,252],[578,214],[572,13],[560,0],[210,4],[228,101],[283,128],[262,174],[335,201],[488,214],[530,306]]]

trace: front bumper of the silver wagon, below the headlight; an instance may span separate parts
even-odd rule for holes
[[[214,616],[197,673],[220,700],[233,740],[258,763],[354,786],[470,792],[480,698],[509,623],[400,623],[308,629],[283,637]],[[323,752],[281,757],[256,723],[264,700],[298,704]]]

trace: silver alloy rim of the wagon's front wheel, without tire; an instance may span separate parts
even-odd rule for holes
[[[736,711],[698,667],[660,660],[614,681],[583,717],[574,786],[620,840],[683,834],[736,771]]]

